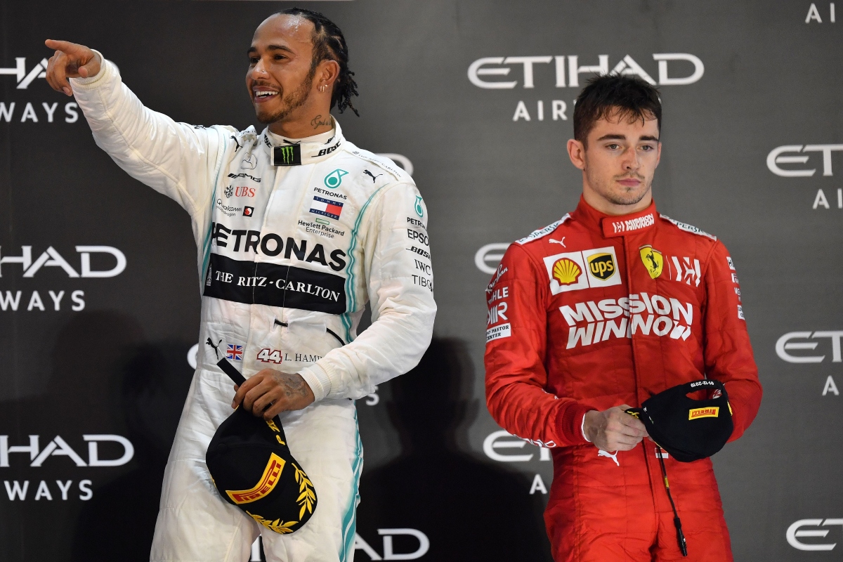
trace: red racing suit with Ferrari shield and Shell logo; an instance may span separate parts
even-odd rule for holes
[[[732,560],[706,458],[665,458],[687,538],[679,552],[656,447],[602,452],[583,416],[703,377],[725,383],[741,436],[761,386],[731,257],[658,214],[577,210],[509,246],[486,289],[486,402],[504,429],[550,447],[545,524],[563,560]]]

